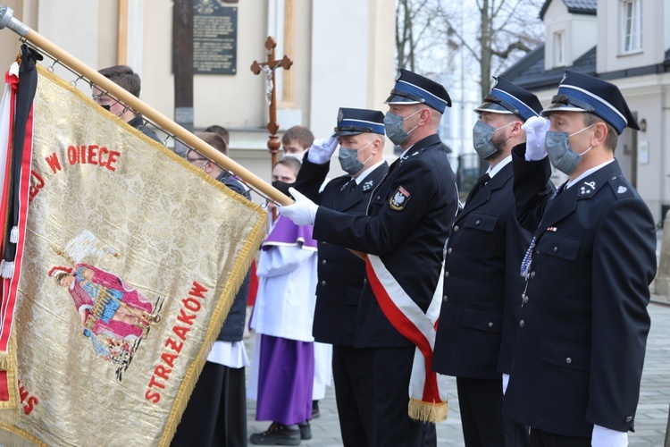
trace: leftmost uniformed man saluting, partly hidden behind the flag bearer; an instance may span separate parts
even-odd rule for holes
[[[339,142],[339,165],[347,175],[323,181]],[[295,188],[331,209],[365,215],[373,190],[389,171],[383,159],[384,114],[340,108],[330,139],[316,140],[306,152]],[[339,427],[345,446],[374,445],[372,355],[355,348],[356,312],[365,263],[348,249],[319,240],[319,282],[314,309],[314,341],[331,343],[332,375]]]

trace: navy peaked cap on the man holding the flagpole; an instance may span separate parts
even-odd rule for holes
[[[425,104],[444,114],[451,98],[442,84],[401,68],[384,104]]]

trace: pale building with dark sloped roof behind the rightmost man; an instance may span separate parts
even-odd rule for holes
[[[543,105],[565,68],[615,83],[641,125],[624,131],[615,156],[660,223],[670,204],[670,0],[547,0],[540,19],[545,42],[502,76]]]

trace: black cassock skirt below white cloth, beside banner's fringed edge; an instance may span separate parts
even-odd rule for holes
[[[247,387],[245,368],[224,367],[206,362],[173,446],[247,445]]]

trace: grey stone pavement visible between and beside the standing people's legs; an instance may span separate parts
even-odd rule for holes
[[[652,297],[653,299],[653,297]],[[629,434],[631,447],[663,446],[666,435],[668,405],[670,405],[670,307],[650,304],[651,332],[647,345],[647,357],[642,374],[642,388],[635,433]],[[251,358],[253,337],[247,339],[247,350]],[[247,368],[247,372],[248,372]],[[319,402],[321,417],[312,421],[313,438],[301,445],[308,447],[334,447],[342,445],[339,434],[338,411],[335,392],[328,388],[326,397]],[[264,431],[270,422],[255,420],[255,401],[247,401],[248,433]],[[448,420],[438,424],[438,445],[464,447],[461,420],[458,414],[456,381],[449,378]]]

